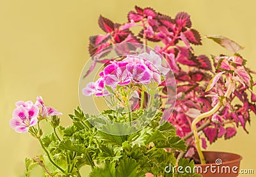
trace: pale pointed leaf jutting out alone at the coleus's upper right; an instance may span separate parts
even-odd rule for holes
[[[238,43],[224,36],[211,35],[206,37],[211,40],[214,40],[214,42],[219,43],[222,47],[225,47],[226,49],[231,50],[232,52],[235,52],[235,53],[237,53],[241,49],[244,49],[244,47],[242,47]]]

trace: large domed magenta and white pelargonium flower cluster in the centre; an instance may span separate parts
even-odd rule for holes
[[[86,96],[106,96],[108,89],[104,84],[115,89],[117,85],[148,84],[157,82],[161,84],[161,74],[166,75],[170,69],[161,65],[161,58],[155,52],[150,51],[138,56],[129,55],[122,61],[110,61],[110,64],[99,73],[100,78],[96,82],[90,82],[83,89]]]

